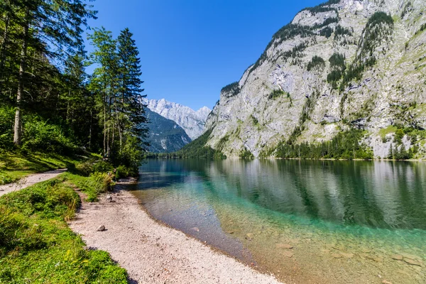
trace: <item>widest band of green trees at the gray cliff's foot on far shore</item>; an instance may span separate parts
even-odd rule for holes
[[[332,138],[332,141],[322,143],[295,144],[292,141],[293,139],[289,138],[287,142],[280,143],[275,155],[279,158],[371,159],[373,158],[373,151],[359,143],[362,137],[362,130],[351,129],[338,133],[337,136]]]

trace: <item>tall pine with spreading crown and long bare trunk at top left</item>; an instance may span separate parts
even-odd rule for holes
[[[1,8],[4,9],[3,6]],[[13,138],[19,146],[23,94],[28,80],[26,70],[31,65],[28,51],[33,51],[33,58],[37,60],[45,58],[54,62],[63,59],[67,53],[82,45],[82,28],[87,26],[87,18],[94,18],[95,13],[81,0],[17,0],[12,1],[6,14],[9,14],[9,25],[13,19],[13,25],[17,27],[15,38],[20,41]]]

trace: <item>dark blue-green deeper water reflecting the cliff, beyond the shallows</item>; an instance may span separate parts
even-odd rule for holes
[[[422,163],[334,160],[151,160],[139,190],[204,182],[224,202],[337,224],[426,229]],[[193,189],[194,190],[194,189]]]

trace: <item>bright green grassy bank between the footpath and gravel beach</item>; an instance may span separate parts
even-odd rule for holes
[[[80,204],[73,183],[84,179],[60,175],[0,197],[0,283],[127,283],[124,268],[67,226]]]

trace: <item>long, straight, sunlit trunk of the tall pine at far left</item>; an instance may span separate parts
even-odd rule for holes
[[[25,13],[26,23],[23,27],[23,43],[21,50],[21,63],[19,64],[19,77],[18,77],[18,92],[16,94],[16,113],[15,113],[15,126],[13,127],[13,143],[16,146],[21,146],[22,142],[22,114],[21,114],[21,102],[23,97],[23,82],[24,72],[26,67],[26,55],[28,47],[28,18],[29,9],[26,9]]]

